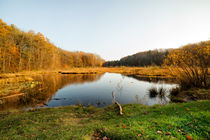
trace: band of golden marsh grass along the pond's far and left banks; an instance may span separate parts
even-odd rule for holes
[[[110,73],[120,73],[126,76],[129,75],[138,75],[141,74],[145,77],[154,78],[157,73],[161,73],[160,71],[166,71],[165,68],[158,67],[115,67],[115,68],[72,68],[68,71],[23,71],[17,73],[5,73],[0,74],[0,97],[5,97],[7,95],[11,96],[13,93],[19,93],[24,88],[34,87],[34,83],[37,84],[32,77],[36,75],[42,74],[103,74],[106,72]],[[164,73],[164,72],[163,72]],[[161,75],[161,74],[159,74]],[[162,75],[162,77],[165,76]],[[167,76],[169,77],[169,76]]]

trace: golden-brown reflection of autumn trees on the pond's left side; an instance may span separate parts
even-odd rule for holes
[[[6,98],[1,101],[0,110],[10,108],[35,107],[46,105],[56,92],[70,84],[84,84],[100,79],[103,74],[44,74],[33,76],[38,84],[30,89],[24,89],[24,95]]]

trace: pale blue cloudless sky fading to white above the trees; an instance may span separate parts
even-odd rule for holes
[[[106,60],[210,38],[210,0],[0,0],[0,18]]]

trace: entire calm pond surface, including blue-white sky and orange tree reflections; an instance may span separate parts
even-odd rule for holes
[[[27,109],[30,107],[57,107],[83,104],[105,107],[113,104],[112,92],[120,104],[168,104],[169,90],[175,83],[128,77],[121,74],[45,74],[34,76],[40,82],[25,95],[7,99],[1,109]],[[148,81],[149,80],[149,81]],[[152,87],[166,89],[164,96],[150,96]]]

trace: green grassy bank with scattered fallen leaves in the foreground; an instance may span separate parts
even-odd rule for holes
[[[94,134],[111,139],[210,139],[209,110],[210,101],[197,101],[151,107],[128,104],[123,105],[122,116],[117,106],[3,112],[0,139],[74,140]]]

